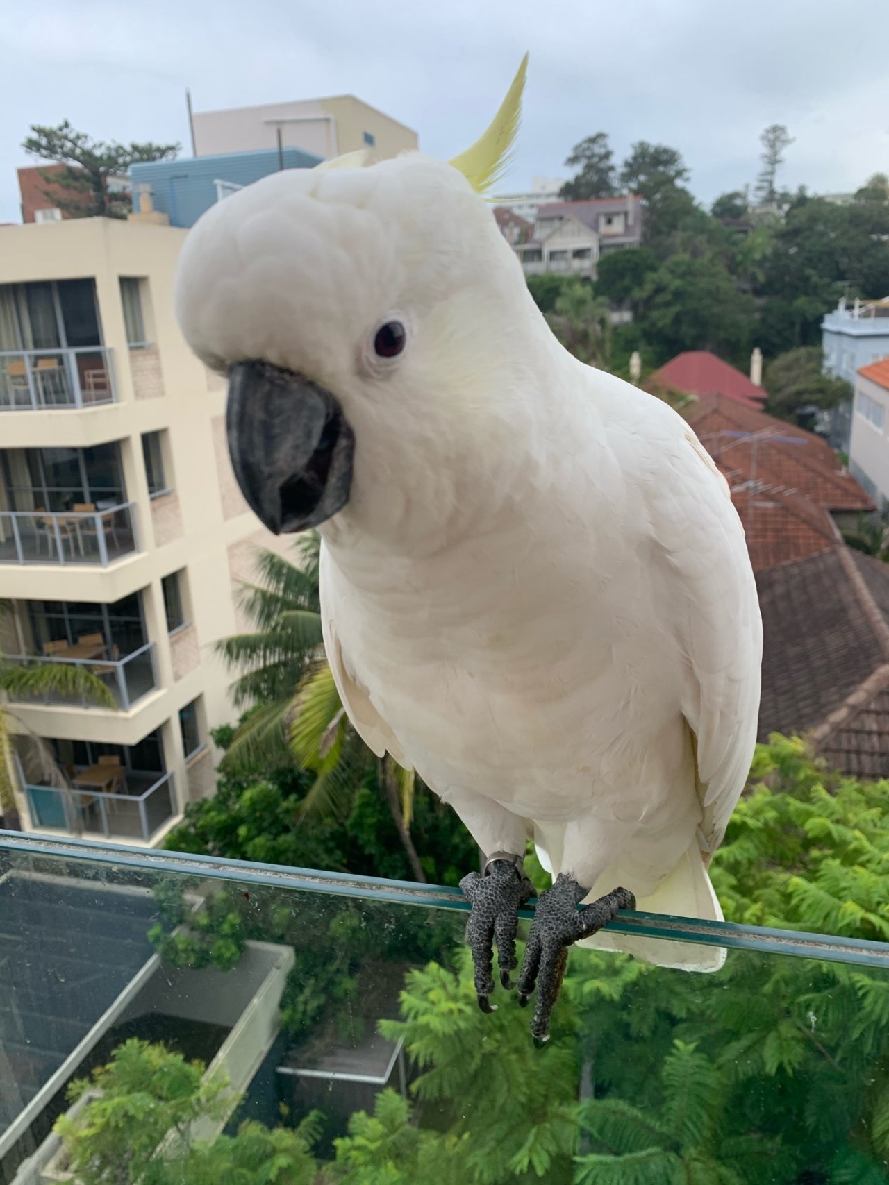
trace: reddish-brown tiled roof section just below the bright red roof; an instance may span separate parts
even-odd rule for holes
[[[875,508],[830,444],[805,428],[729,396],[698,399],[685,410],[685,418],[733,489],[755,481],[763,497],[780,494],[786,501],[786,495],[798,494],[825,511]],[[794,507],[799,511],[799,501]]]

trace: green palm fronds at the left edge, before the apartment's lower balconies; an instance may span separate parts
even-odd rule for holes
[[[7,609],[8,604],[0,604]],[[19,667],[7,662],[0,652],[0,816],[12,831],[20,828],[15,805],[18,781],[13,754],[13,732],[25,734],[31,741],[31,761],[37,775],[50,786],[70,790],[63,770],[46,742],[28,729],[9,706],[9,698],[30,699],[46,694],[89,699],[98,707],[116,707],[116,700],[104,683],[87,667],[68,662],[36,662]],[[71,812],[77,818],[77,812]]]

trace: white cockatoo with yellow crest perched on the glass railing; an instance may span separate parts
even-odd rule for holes
[[[699,971],[724,957],[597,931],[633,895],[722,917],[706,865],[754,749],[761,622],[695,433],[559,345],[477,192],[524,69],[450,164],[347,158],[213,206],[185,243],[177,312],[229,376],[248,502],[271,531],[320,529],[352,724],[486,853],[462,883],[486,1011],[494,940],[512,986],[529,837],[552,872],[518,984],[525,1003],[539,976],[544,1040],[571,942]]]

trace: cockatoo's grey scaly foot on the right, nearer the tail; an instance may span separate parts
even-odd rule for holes
[[[577,909],[589,892],[573,877],[556,877],[551,889],[541,893],[527,937],[519,974],[519,1004],[524,1007],[538,985],[537,1006],[531,1019],[535,1045],[549,1040],[550,1017],[568,963],[568,947],[587,939],[610,922],[619,909],[635,909],[635,897],[626,889],[614,889],[599,901]],[[538,982],[539,976],[539,982]]]

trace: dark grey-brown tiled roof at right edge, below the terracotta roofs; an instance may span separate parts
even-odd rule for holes
[[[760,739],[807,732],[844,774],[889,777],[889,565],[840,544],[756,584]]]

